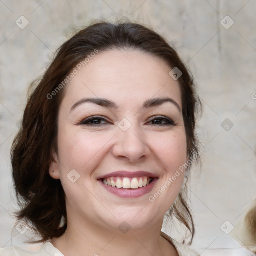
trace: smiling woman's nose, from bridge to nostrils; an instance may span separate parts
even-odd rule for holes
[[[112,150],[115,158],[137,162],[145,159],[149,153],[150,150],[147,145],[146,136],[141,128],[136,125],[131,125],[126,131],[118,128]]]

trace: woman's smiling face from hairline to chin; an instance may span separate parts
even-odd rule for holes
[[[162,224],[187,161],[181,92],[170,70],[146,53],[111,50],[66,85],[49,173],[61,180],[68,223]]]

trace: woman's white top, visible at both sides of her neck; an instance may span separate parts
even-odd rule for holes
[[[163,234],[177,250],[179,256],[200,256],[197,252],[190,249],[187,245],[181,244],[173,240],[171,237]],[[50,242],[45,242],[40,245],[41,248],[37,251],[25,250],[16,246],[0,249],[0,256],[64,256]]]

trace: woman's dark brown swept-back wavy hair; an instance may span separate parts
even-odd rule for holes
[[[58,49],[52,63],[30,94],[22,126],[11,148],[12,177],[20,206],[17,217],[37,231],[42,237],[40,241],[61,236],[67,227],[63,188],[60,180],[51,178],[48,173],[49,164],[53,160],[52,152],[57,152],[58,110],[65,91],[60,84],[95,49],[99,52],[136,49],[164,60],[170,70],[177,67],[182,72],[178,82],[182,95],[187,154],[192,157],[198,152],[195,119],[200,100],[195,93],[191,75],[166,40],[136,23],[96,22],[80,30]],[[62,89],[56,91],[57,87]],[[49,97],[53,91],[56,92],[54,97]],[[186,172],[189,169],[190,166]],[[186,185],[170,208],[169,215],[184,224],[193,238],[194,223],[185,197]],[[60,227],[61,217],[64,224]]]

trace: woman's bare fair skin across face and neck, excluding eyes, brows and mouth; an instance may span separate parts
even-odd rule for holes
[[[179,84],[170,70],[164,61],[144,52],[110,50],[96,54],[66,86],[58,114],[58,152],[49,168],[66,194],[67,230],[51,241],[65,256],[178,255],[160,231],[184,173],[154,202],[148,198],[188,160],[182,111],[171,102],[142,108],[145,100],[167,96],[182,109]],[[86,102],[70,111],[85,97],[106,98],[118,108]],[[79,124],[93,115],[105,121]],[[157,119],[158,115],[175,125]],[[127,131],[118,126],[123,118],[131,124]],[[74,183],[67,178],[72,169],[80,175]],[[121,198],[97,180],[117,170],[145,170],[157,174],[158,180],[148,194]],[[131,228],[127,233],[118,228],[123,221]]]

